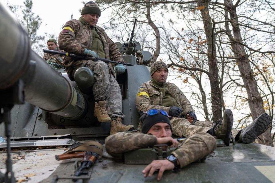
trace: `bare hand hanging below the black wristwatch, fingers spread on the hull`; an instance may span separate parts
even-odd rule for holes
[[[142,170],[142,173],[144,177],[151,177],[156,170],[159,170],[158,180],[160,180],[165,170],[172,170],[173,168],[175,168],[175,165],[169,160],[154,160]]]

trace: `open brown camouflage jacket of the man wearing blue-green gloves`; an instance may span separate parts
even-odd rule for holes
[[[112,61],[124,62],[116,44],[108,37],[104,29],[96,26],[96,30],[103,43],[106,58]],[[58,36],[58,44],[60,49],[66,52],[84,55],[85,49],[90,49],[93,44],[93,34],[90,25],[88,23],[84,25],[76,19],[69,20],[65,23],[63,30]],[[72,77],[74,66],[83,63],[83,61],[71,59],[71,57],[66,57],[64,60],[64,64],[70,65],[66,67],[66,71],[72,81],[74,81]],[[114,74],[111,63],[109,63],[109,68],[111,73]]]

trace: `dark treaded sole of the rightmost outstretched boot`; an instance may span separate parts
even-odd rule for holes
[[[268,114],[263,113],[253,123],[252,127],[250,127],[242,136],[242,142],[245,144],[251,144],[259,135],[264,133],[269,128],[271,119]]]

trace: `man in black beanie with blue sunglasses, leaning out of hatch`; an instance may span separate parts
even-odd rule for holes
[[[113,157],[122,157],[122,153],[140,148],[153,147],[156,144],[167,144],[176,149],[166,160],[154,160],[142,173],[151,177],[159,169],[158,180],[165,170],[182,168],[192,162],[205,158],[216,149],[216,140],[208,133],[198,133],[178,144],[173,139],[172,127],[167,112],[152,109],[140,117],[142,133],[125,133],[108,136],[105,139],[106,151]]]

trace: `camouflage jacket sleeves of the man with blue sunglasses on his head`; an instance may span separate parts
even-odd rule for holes
[[[105,139],[106,151],[113,157],[122,157],[122,153],[140,148],[153,147],[157,138],[142,133],[119,132]],[[200,160],[216,149],[216,140],[208,133],[198,133],[188,137],[172,152],[179,160],[180,167]]]

